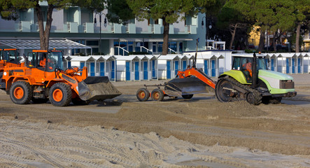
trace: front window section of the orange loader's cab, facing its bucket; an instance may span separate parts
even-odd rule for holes
[[[55,69],[64,69],[64,64],[62,62],[62,52],[52,51],[48,55],[47,62],[48,71],[55,71]]]

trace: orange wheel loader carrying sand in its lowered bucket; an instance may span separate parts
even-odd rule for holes
[[[7,94],[15,104],[45,103],[54,106],[88,104],[92,100],[112,99],[121,94],[106,76],[87,76],[87,67],[63,69],[59,50],[33,50],[24,66],[4,67]]]

